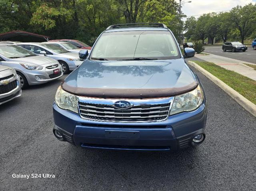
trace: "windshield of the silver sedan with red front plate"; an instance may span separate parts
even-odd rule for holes
[[[23,58],[37,56],[37,54],[28,51],[17,45],[0,45],[0,54],[6,58]]]

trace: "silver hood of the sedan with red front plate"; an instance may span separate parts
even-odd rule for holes
[[[56,60],[46,56],[30,56],[30,57],[24,57],[24,58],[15,58],[11,60],[20,62],[20,63],[27,63],[27,64],[30,63],[35,65],[44,65],[44,64],[56,62]]]

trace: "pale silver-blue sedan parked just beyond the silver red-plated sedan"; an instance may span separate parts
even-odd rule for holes
[[[16,45],[23,47],[38,55],[44,55],[56,59],[62,66],[64,74],[75,70],[84,59],[80,59],[78,53],[73,53],[49,43],[23,42]]]

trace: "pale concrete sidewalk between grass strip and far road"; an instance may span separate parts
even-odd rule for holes
[[[223,56],[218,56],[218,55],[213,55],[213,54],[210,54],[210,55],[195,54],[195,57],[200,58],[207,62],[215,63],[216,65],[219,65],[220,67],[223,67],[227,70],[234,71],[236,73],[239,73],[243,76],[246,76],[246,77],[256,81],[256,70],[245,65],[245,64],[256,65],[254,63],[249,63],[249,62],[240,61],[240,60],[227,58],[227,57],[223,57]],[[245,64],[243,64],[243,63],[245,63]]]

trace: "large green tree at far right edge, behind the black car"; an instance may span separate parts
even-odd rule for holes
[[[230,11],[231,21],[239,30],[242,43],[256,28],[255,10],[256,4],[250,3],[244,7],[236,6]]]

